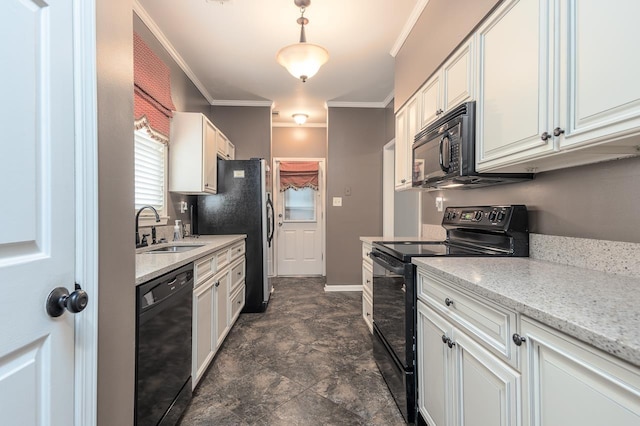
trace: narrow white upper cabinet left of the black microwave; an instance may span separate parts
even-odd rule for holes
[[[418,133],[420,104],[414,96],[396,115],[395,189],[411,188],[413,139]]]

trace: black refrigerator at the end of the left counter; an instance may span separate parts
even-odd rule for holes
[[[217,194],[198,196],[196,211],[200,235],[247,235],[242,312],[264,312],[272,290],[267,256],[274,225],[265,160],[218,159]]]

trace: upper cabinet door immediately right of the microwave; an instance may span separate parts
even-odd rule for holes
[[[477,32],[477,168],[554,149],[551,0],[507,0]]]

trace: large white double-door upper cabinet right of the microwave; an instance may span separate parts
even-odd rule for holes
[[[538,172],[637,155],[631,0],[507,0],[478,29],[477,169]]]

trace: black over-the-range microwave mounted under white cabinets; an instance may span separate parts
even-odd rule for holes
[[[452,109],[415,136],[414,188],[468,189],[533,178],[531,173],[476,173],[475,104]]]

